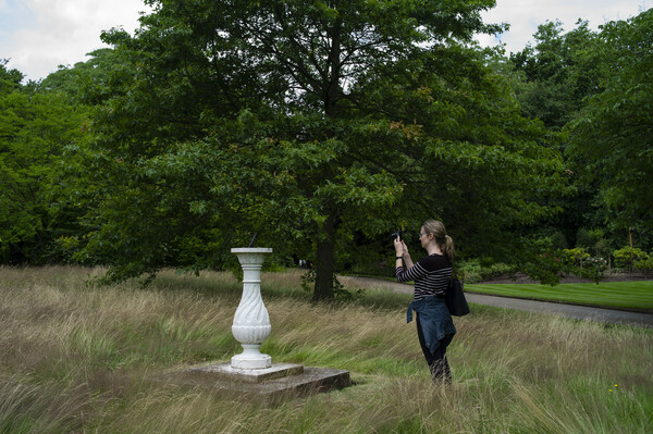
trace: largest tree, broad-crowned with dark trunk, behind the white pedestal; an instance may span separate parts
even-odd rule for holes
[[[217,265],[259,232],[315,249],[329,299],[356,232],[435,216],[505,255],[506,230],[553,211],[559,154],[460,44],[500,29],[492,0],[148,3],[134,37],[102,36],[125,63],[94,123],[84,255],[110,278]]]

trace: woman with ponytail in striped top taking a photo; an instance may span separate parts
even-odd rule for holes
[[[456,327],[444,303],[444,294],[452,278],[454,240],[446,235],[446,228],[438,220],[424,222],[419,233],[422,247],[429,256],[416,264],[404,240],[395,239],[396,270],[398,282],[415,281],[415,297],[408,307],[407,322],[417,312],[417,335],[433,382],[449,383],[452,374],[446,360]]]

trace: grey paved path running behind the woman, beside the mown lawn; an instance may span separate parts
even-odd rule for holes
[[[412,294],[412,286],[371,277],[338,277],[358,287],[377,287],[402,294]],[[347,285],[348,286],[348,285]],[[520,298],[496,297],[482,294],[465,293],[467,301],[478,305],[517,309],[528,312],[553,313],[579,320],[600,321],[613,324],[628,324],[653,328],[653,313],[627,312],[614,309],[592,308],[587,306],[563,305],[550,301],[525,300]]]

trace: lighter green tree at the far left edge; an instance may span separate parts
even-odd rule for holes
[[[85,110],[22,79],[0,63],[0,261],[39,263],[57,259],[54,240],[76,226],[59,175]]]

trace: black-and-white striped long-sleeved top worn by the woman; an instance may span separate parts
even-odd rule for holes
[[[443,255],[430,255],[417,261],[409,270],[398,266],[397,282],[415,281],[415,300],[428,296],[443,296],[452,278],[452,263]]]

